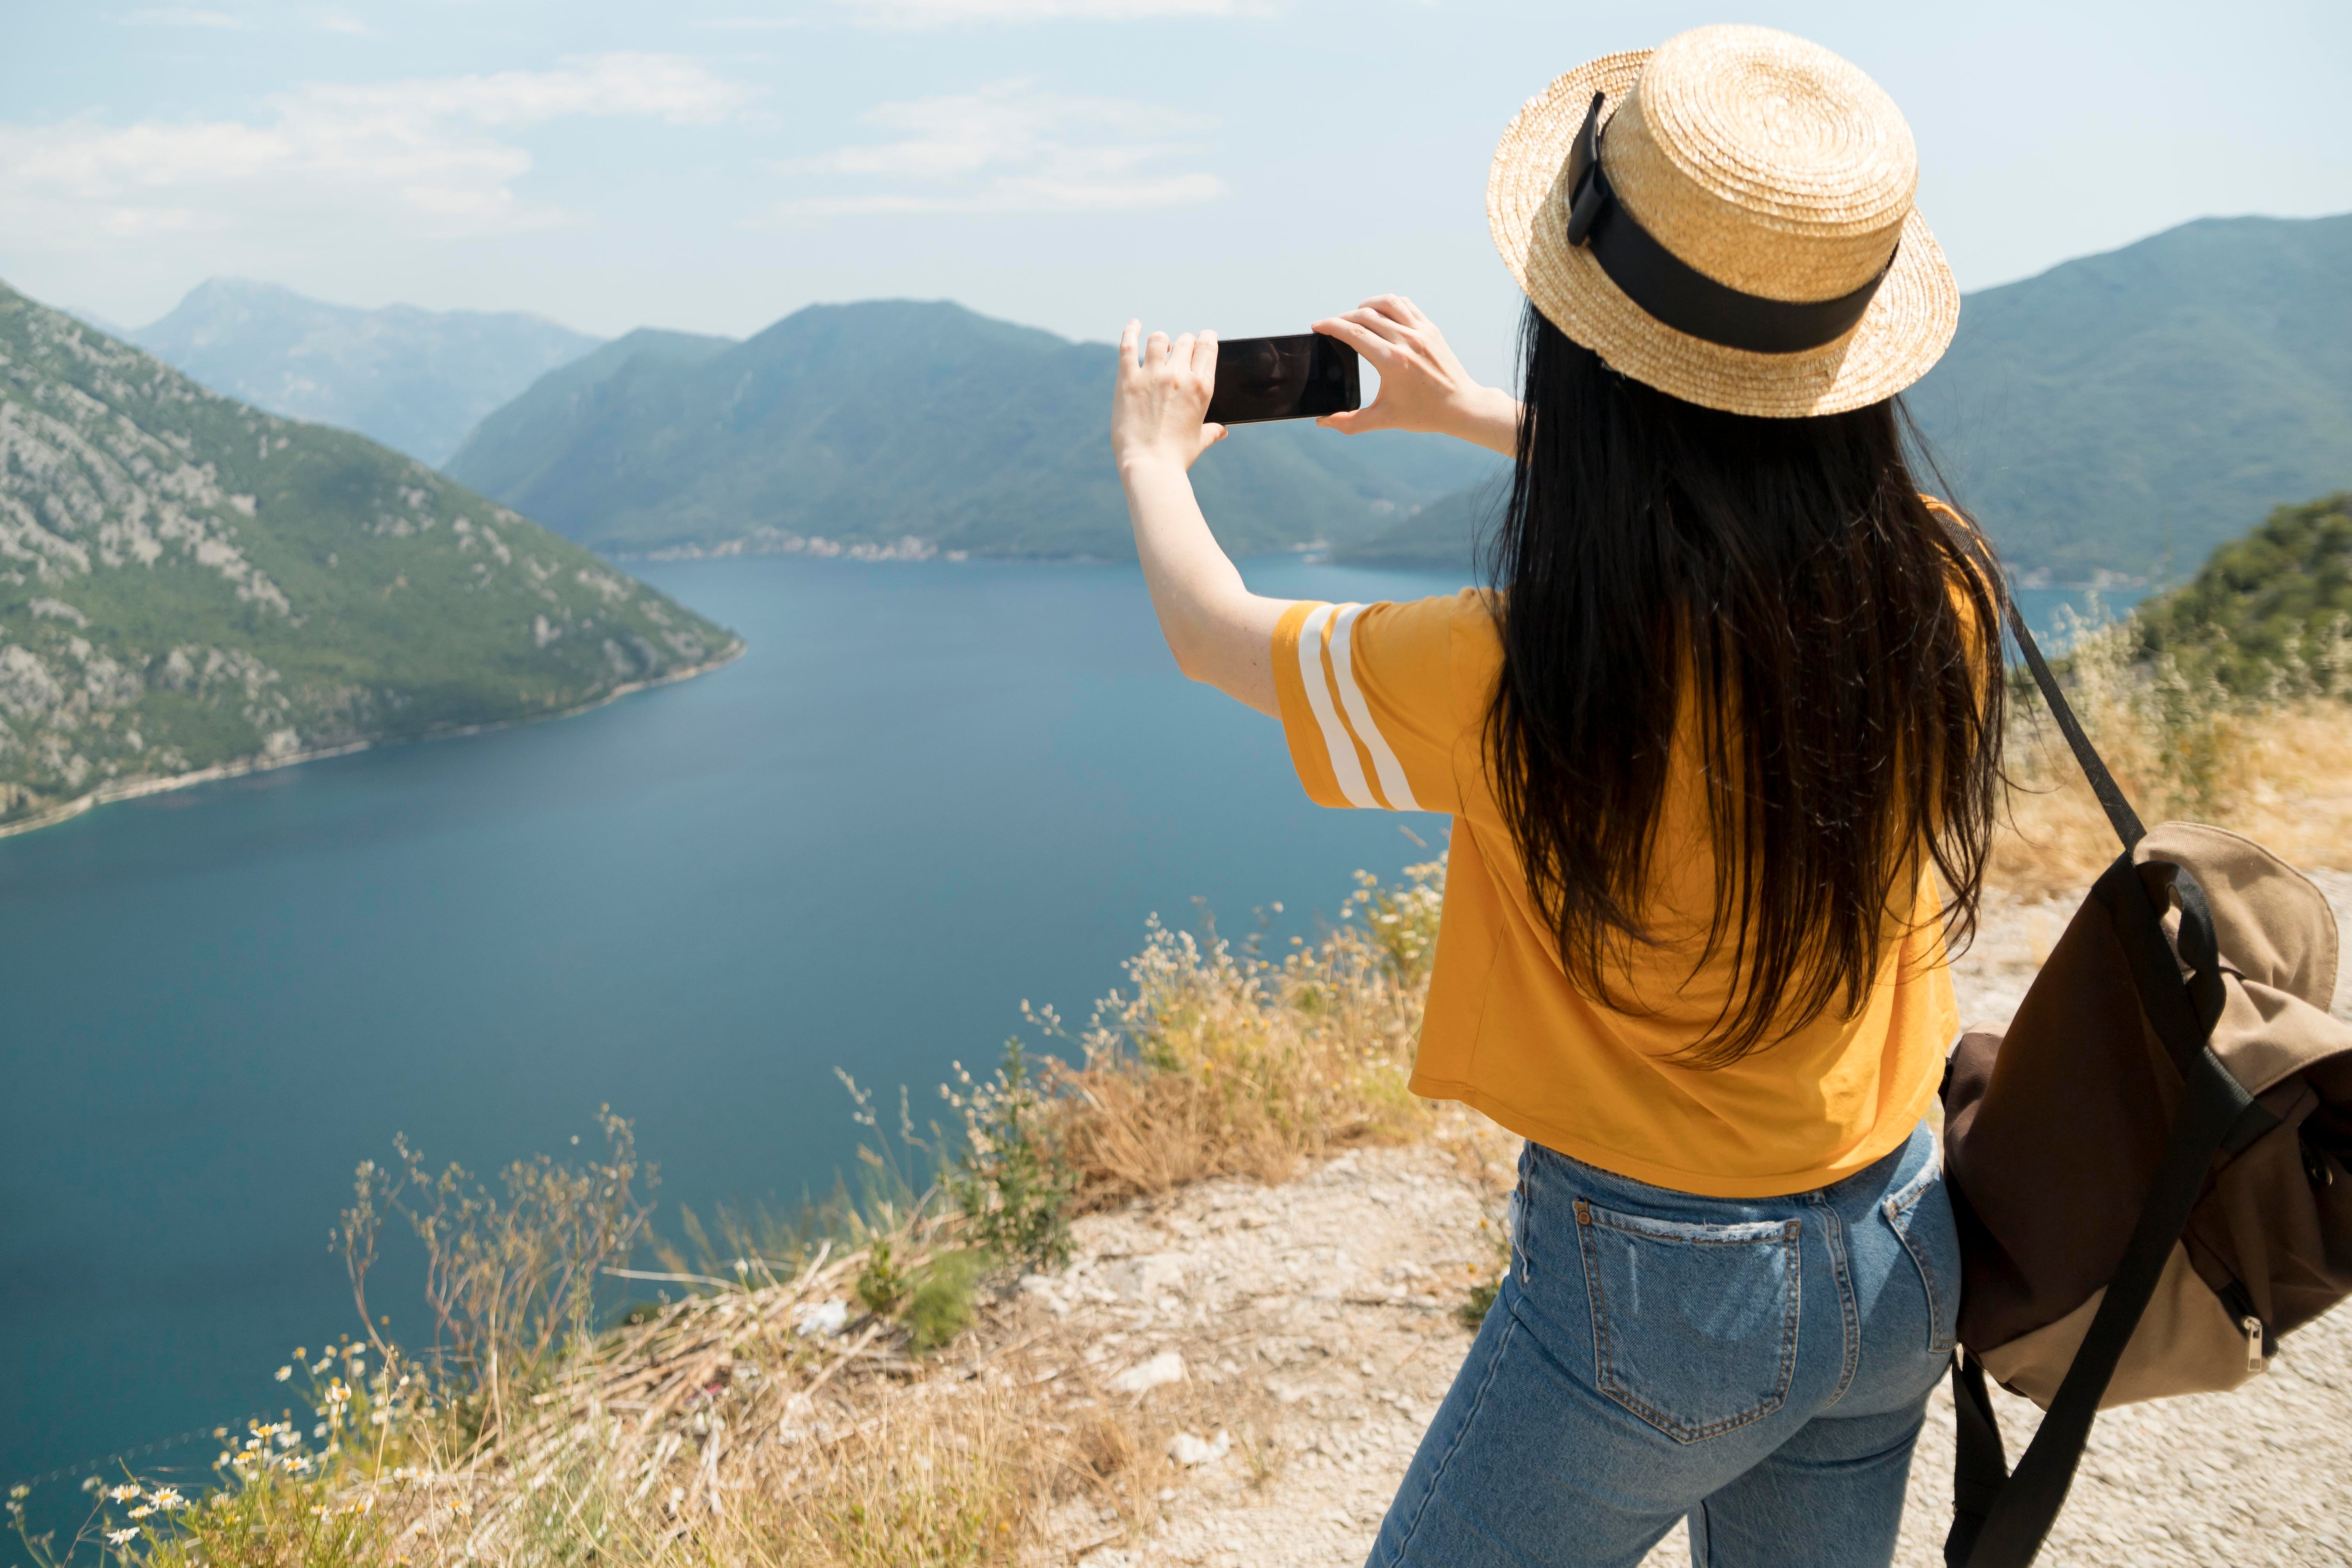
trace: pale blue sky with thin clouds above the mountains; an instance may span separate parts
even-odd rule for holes
[[[0,280],[129,327],[238,275],[595,334],[915,296],[1075,339],[1392,289],[1496,378],[1496,136],[1705,21],[1893,94],[1964,289],[2352,209],[2340,0],[0,0]]]

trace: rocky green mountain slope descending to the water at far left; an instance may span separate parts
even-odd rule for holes
[[[0,825],[557,715],[739,646],[414,458],[0,284]]]

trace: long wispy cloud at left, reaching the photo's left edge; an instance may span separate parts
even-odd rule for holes
[[[750,96],[687,59],[595,54],[555,71],[310,85],[263,99],[252,120],[0,125],[0,228],[64,247],[329,214],[442,235],[548,228],[576,214],[515,193],[532,155],[503,134],[581,115],[708,125]]]

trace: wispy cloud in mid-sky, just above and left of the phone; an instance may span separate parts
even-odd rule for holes
[[[1204,169],[1167,169],[1200,153],[1207,127],[1152,103],[1073,99],[1028,82],[882,103],[861,115],[896,139],[795,158],[776,169],[823,183],[779,202],[779,221],[882,212],[1138,212],[1225,195]]]

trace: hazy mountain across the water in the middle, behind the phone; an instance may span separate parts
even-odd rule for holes
[[[953,303],[809,306],[724,348],[630,334],[485,418],[449,473],[597,550],[1131,557],[1112,369],[1110,346]],[[1282,423],[1195,477],[1218,536],[1263,552],[1359,538],[1494,463]]]

